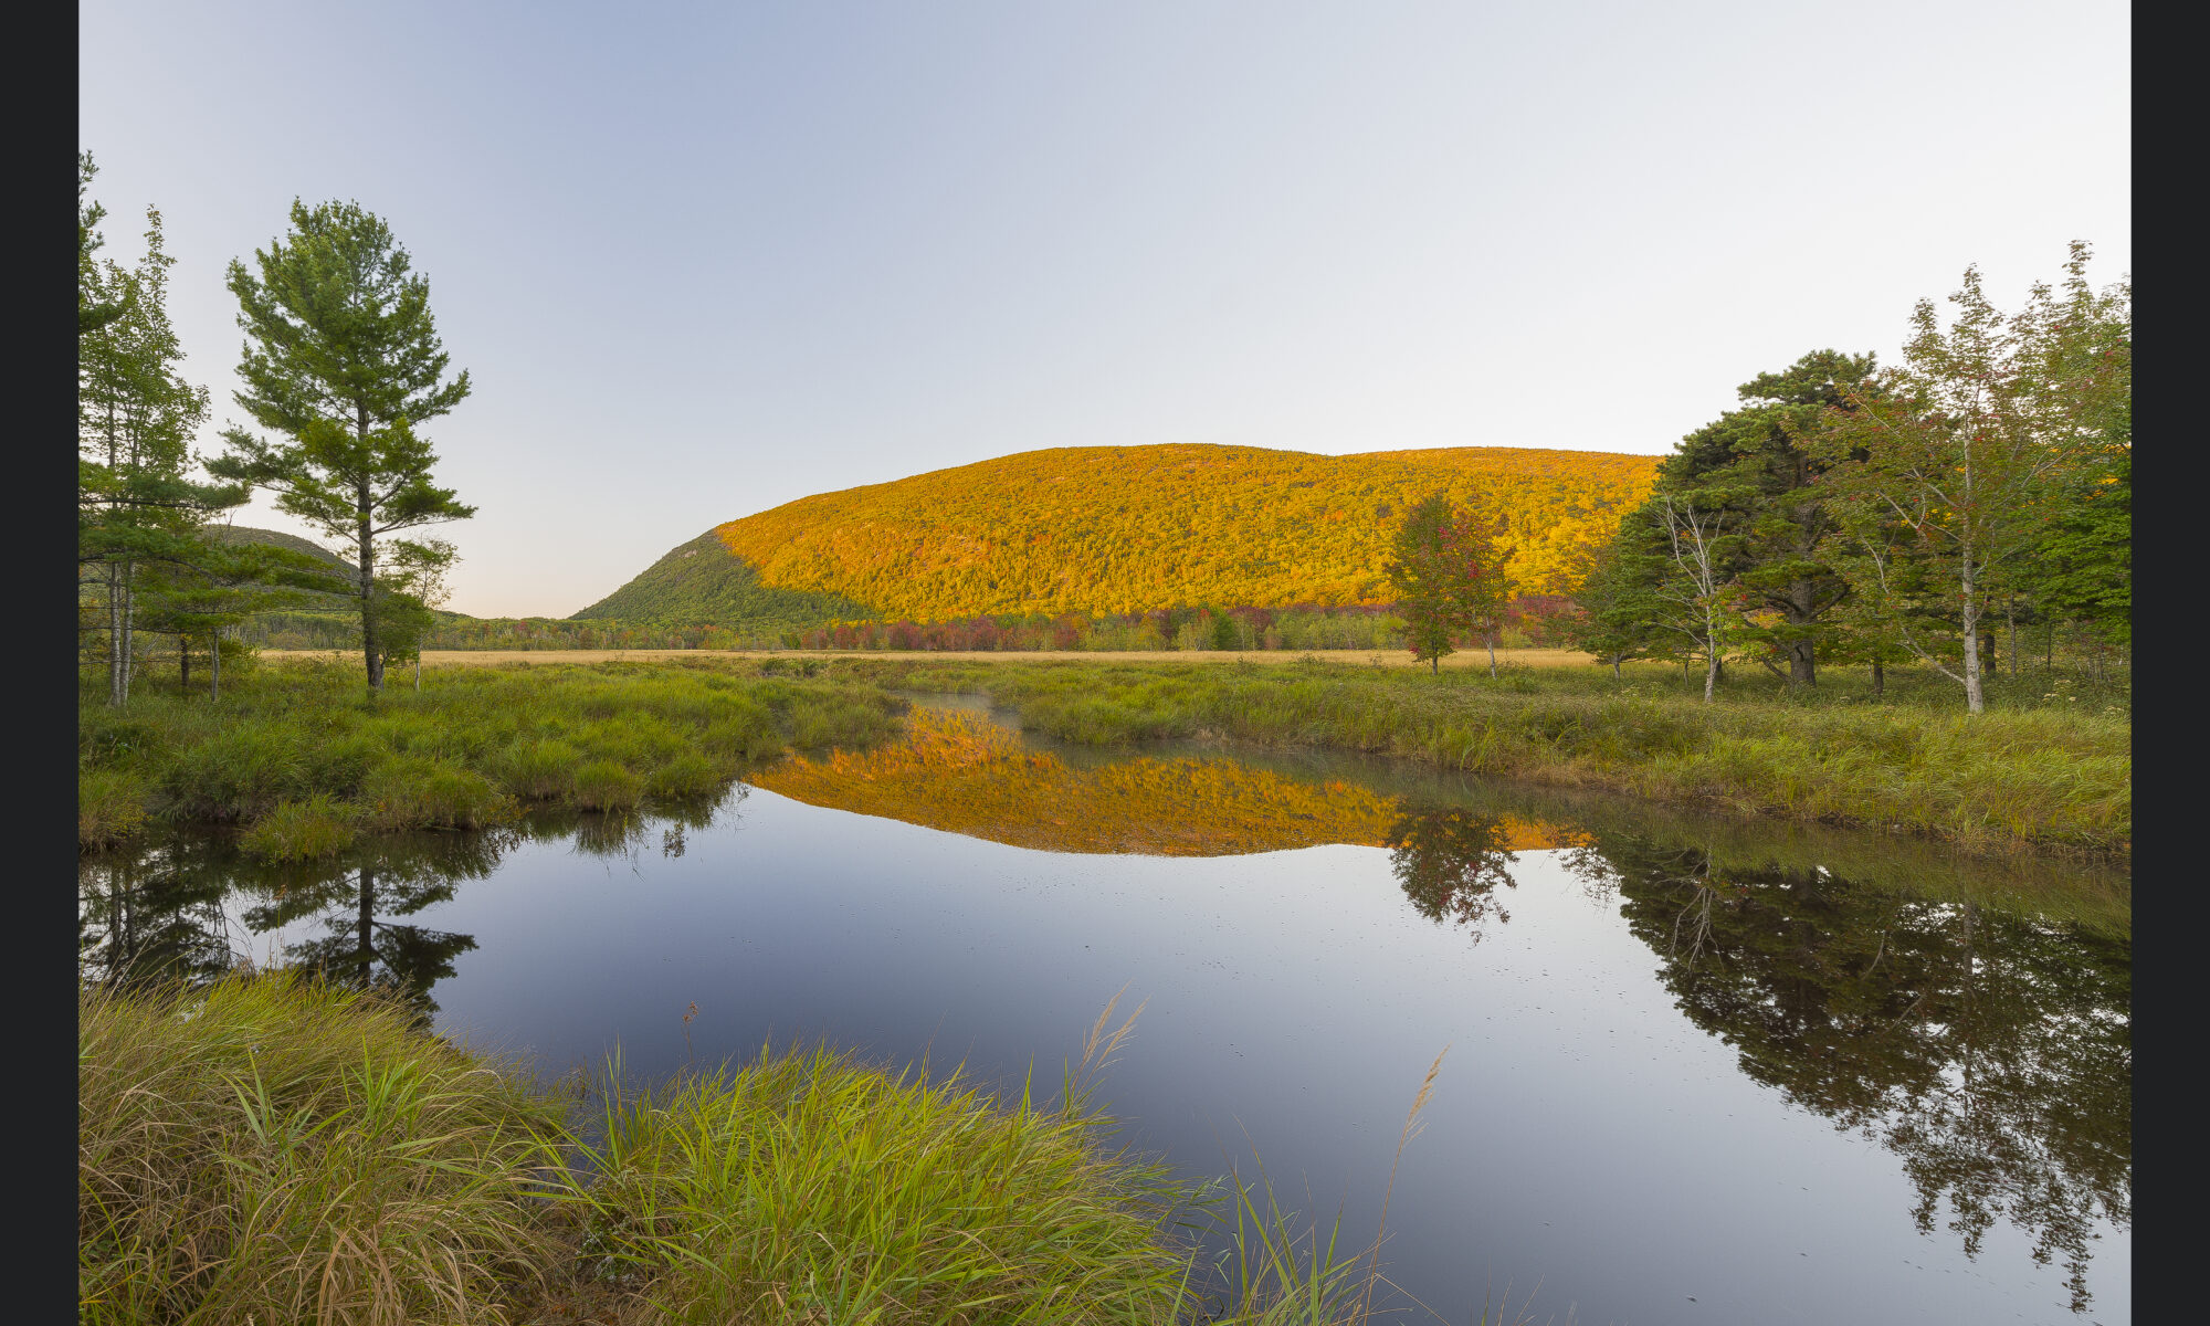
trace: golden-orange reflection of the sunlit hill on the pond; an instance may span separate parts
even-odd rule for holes
[[[970,714],[915,709],[906,738],[873,751],[793,756],[749,778],[815,807],[902,820],[1010,846],[1074,853],[1246,855],[1324,842],[1386,846],[1392,796],[1299,782],[1235,760],[1136,758],[1076,769]],[[1514,851],[1569,831],[1505,822]]]

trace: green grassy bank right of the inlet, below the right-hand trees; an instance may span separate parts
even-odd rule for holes
[[[2126,696],[2073,681],[2020,678],[2018,694],[1971,716],[1938,678],[1916,674],[1892,674],[1878,703],[1832,676],[1808,694],[1737,678],[1704,705],[1671,670],[1613,681],[1596,667],[1498,678],[1328,663],[844,667],[886,687],[981,692],[1030,729],[1083,745],[1220,736],[1355,749],[1978,851],[2126,853],[2133,842]],[[2080,692],[2088,698],[2062,698]]]

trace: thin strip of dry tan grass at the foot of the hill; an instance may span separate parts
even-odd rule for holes
[[[329,659],[329,650],[261,650],[263,659]],[[358,652],[336,654],[358,661]],[[1291,663],[1295,659],[1357,663],[1381,667],[1425,667],[1410,650],[422,650],[424,667],[486,667],[495,663],[650,663],[659,659],[895,659],[917,663]],[[1587,667],[1596,663],[1578,650],[1496,650],[1496,663],[1520,667]],[[1443,667],[1487,667],[1485,650],[1465,650],[1443,659]],[[393,674],[393,683],[402,674]]]

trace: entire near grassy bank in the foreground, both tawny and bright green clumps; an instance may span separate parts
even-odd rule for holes
[[[999,1103],[791,1052],[575,1109],[290,977],[82,992],[77,1036],[82,1322],[1359,1319],[1355,1257],[1257,1193],[1209,1282],[1207,1193],[1078,1072]]]

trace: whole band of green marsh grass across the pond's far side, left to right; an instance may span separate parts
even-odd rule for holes
[[[77,838],[148,820],[243,827],[272,860],[360,833],[466,829],[524,807],[628,811],[718,791],[787,747],[866,747],[893,690],[983,692],[1041,734],[1109,747],[1235,738],[1421,760],[1485,778],[1620,791],[1733,813],[1918,833],[1976,851],[2126,855],[2133,727],[2124,678],[1998,676],[1967,716],[1954,687],[1896,670],[1883,696],[1832,670],[1790,692],[1735,676],[1715,705],[1677,670],[1518,667],[1428,676],[1328,663],[714,656],[438,667],[367,701],[347,663],[287,661],[221,703],[80,705]]]

